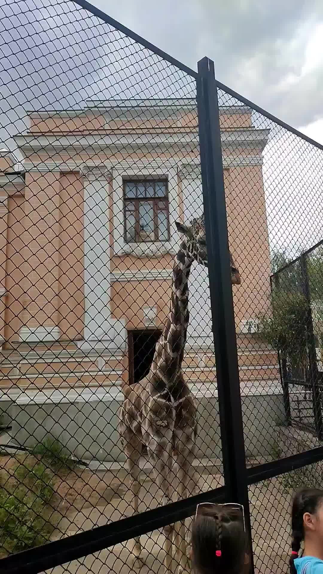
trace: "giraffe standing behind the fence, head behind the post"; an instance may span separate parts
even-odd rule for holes
[[[163,493],[163,504],[172,502],[171,485],[174,468],[177,470],[178,498],[185,498],[189,480],[189,468],[195,457],[197,437],[197,405],[189,386],[184,382],[182,361],[189,324],[188,280],[193,261],[207,267],[205,222],[193,219],[189,225],[176,222],[183,236],[174,259],[170,312],[149,372],[136,385],[124,384],[124,402],[120,411],[119,432],[121,444],[128,460],[130,491],[133,512],[138,512],[140,494],[141,448],[147,447],[152,462],[156,484]],[[231,282],[240,284],[240,274],[230,256]],[[170,478],[171,476],[171,478]],[[172,546],[178,542],[178,574],[187,569],[187,553],[184,522],[164,527],[164,567],[170,574]],[[140,538],[133,548],[133,567],[140,568]],[[176,546],[175,546],[176,548]]]

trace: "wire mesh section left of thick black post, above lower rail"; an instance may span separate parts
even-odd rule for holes
[[[1,36],[6,556],[223,481],[195,78],[72,2]]]

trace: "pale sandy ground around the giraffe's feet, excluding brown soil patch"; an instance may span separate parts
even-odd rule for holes
[[[221,481],[221,476],[209,476],[204,482],[203,490],[214,488]],[[199,481],[201,483],[201,480]],[[222,482],[222,481],[221,481]],[[149,485],[147,494],[143,497],[140,510],[156,506],[157,491],[153,484]],[[271,480],[269,484],[261,487],[252,487],[250,492],[253,528],[253,550],[255,569],[257,573],[270,574],[288,571],[289,556],[289,513],[290,497],[282,494],[279,482]],[[119,497],[120,492],[108,505],[97,506],[95,509],[83,508],[78,511],[67,512],[66,523],[60,526],[67,528],[67,533],[72,534],[80,530],[91,528],[94,523],[100,525],[106,520],[116,520],[129,514],[130,497],[126,493]],[[163,534],[159,531],[152,532],[141,537],[143,545],[142,559],[144,562],[140,574],[163,574]],[[75,560],[47,571],[51,574],[103,574],[113,572],[115,574],[132,574],[139,571],[132,568],[133,540],[124,544],[118,544],[113,548],[102,550],[97,554],[86,556],[82,560]],[[173,561],[173,572],[176,563]]]

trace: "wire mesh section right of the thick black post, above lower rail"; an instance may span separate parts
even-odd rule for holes
[[[311,385],[321,369],[323,152],[218,92],[223,106],[240,110],[240,129],[222,134],[222,148],[229,236],[243,279],[234,304],[240,359],[248,362],[240,371],[245,447],[264,461],[277,457],[282,432],[285,456],[321,444]]]

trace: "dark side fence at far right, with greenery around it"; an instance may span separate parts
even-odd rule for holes
[[[290,340],[280,342],[286,420],[322,439],[322,241],[274,273],[275,317],[294,316]],[[295,317],[298,321],[295,321]]]

